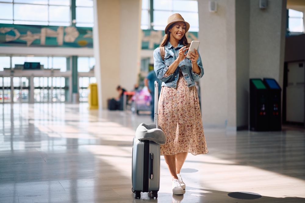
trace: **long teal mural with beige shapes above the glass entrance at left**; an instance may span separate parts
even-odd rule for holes
[[[0,46],[93,48],[91,27],[0,24]]]

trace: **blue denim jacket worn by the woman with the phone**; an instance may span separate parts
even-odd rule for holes
[[[165,73],[168,70],[168,67],[178,58],[179,56],[179,49],[183,47],[182,44],[178,44],[178,47],[173,47],[170,42],[167,43],[167,45],[164,46],[165,49],[165,56],[164,61],[162,60],[162,57],[160,55],[160,47],[156,48],[153,52],[153,59],[154,59],[154,70],[156,72],[157,78],[162,81],[161,86],[167,86],[167,87],[177,87],[177,81],[179,78],[179,69],[181,69],[181,72],[188,84],[188,87],[195,86],[194,80],[199,80],[203,76],[203,67],[202,67],[202,61],[200,58],[197,60],[197,64],[200,69],[200,74],[196,74],[192,71],[192,61],[188,58],[185,58],[183,61],[181,61],[176,68],[175,72],[170,75],[166,75]]]

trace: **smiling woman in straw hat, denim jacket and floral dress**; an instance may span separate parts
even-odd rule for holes
[[[165,49],[164,61],[160,47],[153,53],[154,70],[162,81],[159,124],[167,136],[167,143],[160,150],[172,176],[173,194],[184,194],[180,170],[188,152],[208,152],[194,82],[203,76],[203,67],[197,50],[190,52],[190,59],[186,58],[189,44],[185,33],[189,27],[180,14],[171,15],[160,44]]]

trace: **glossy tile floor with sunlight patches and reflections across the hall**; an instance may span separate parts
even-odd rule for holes
[[[206,155],[189,154],[186,191],[173,195],[161,156],[157,199],[131,192],[132,139],[149,116],[88,104],[0,105],[0,202],[305,202],[305,131],[205,128]],[[229,192],[253,192],[255,200]]]

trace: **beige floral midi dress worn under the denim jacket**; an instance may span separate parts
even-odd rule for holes
[[[167,136],[166,144],[160,147],[161,155],[208,153],[197,90],[195,86],[188,87],[181,70],[176,88],[161,89],[159,125]]]

